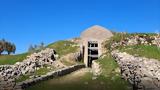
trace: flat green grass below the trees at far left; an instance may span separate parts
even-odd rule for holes
[[[0,55],[0,65],[12,65],[16,62],[23,61],[28,53],[18,54],[18,55]]]

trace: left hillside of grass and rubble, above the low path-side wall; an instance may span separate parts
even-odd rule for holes
[[[81,62],[75,61],[76,54],[74,53],[77,52],[78,48],[79,47],[74,42],[58,41],[46,46],[42,50],[36,50],[32,53],[1,55],[0,72],[2,73],[0,76],[3,76],[3,78],[7,80],[3,81],[2,79],[2,81],[0,81],[0,87],[11,89],[14,87],[12,87],[12,82],[20,83],[29,79],[41,77],[49,72],[81,64]],[[74,58],[69,60],[69,57]],[[6,75],[4,76],[3,73]],[[10,76],[10,73],[13,74]],[[4,82],[9,83],[9,86],[4,85]]]

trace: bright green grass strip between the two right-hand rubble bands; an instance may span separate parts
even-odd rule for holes
[[[157,46],[150,46],[150,45],[125,46],[119,48],[119,50],[122,52],[127,52],[131,55],[160,60],[160,48],[158,48]]]

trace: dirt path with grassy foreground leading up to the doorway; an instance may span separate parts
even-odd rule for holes
[[[86,88],[84,86],[86,81],[91,79],[90,72],[91,69],[83,68],[68,75],[38,83],[26,90],[75,90],[77,88],[81,90],[81,88]]]

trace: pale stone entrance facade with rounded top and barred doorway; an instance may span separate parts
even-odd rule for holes
[[[113,34],[102,26],[92,26],[81,33],[81,52],[86,67],[91,67],[92,61],[98,59],[102,53],[102,43]]]

